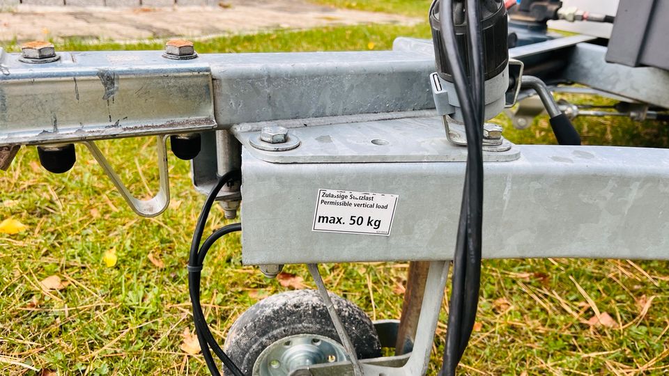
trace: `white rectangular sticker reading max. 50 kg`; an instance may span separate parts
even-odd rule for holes
[[[314,231],[390,235],[397,194],[319,189]]]

